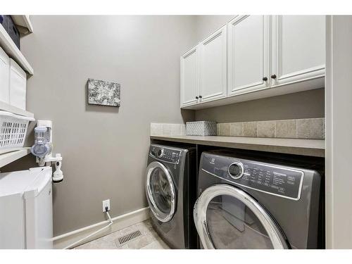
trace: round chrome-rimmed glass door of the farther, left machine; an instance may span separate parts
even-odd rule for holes
[[[146,168],[146,193],[153,215],[168,222],[175,213],[175,187],[170,172],[158,161]]]

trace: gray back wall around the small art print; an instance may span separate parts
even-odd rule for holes
[[[34,33],[22,41],[34,68],[27,109],[53,120],[54,151],[63,156],[54,235],[105,220],[104,199],[112,216],[143,208],[150,122],[194,119],[180,111],[180,55],[196,42],[194,17],[31,19]],[[119,82],[120,108],[87,105],[89,77]]]

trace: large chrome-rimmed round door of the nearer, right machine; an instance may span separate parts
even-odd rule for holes
[[[227,184],[203,191],[194,207],[194,221],[206,249],[287,249],[286,239],[265,209]]]

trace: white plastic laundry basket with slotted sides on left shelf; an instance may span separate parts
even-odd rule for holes
[[[23,147],[30,121],[34,121],[34,118],[27,118],[23,115],[0,111],[1,153]]]

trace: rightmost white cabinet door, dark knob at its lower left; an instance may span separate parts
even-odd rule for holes
[[[271,86],[325,75],[325,15],[272,16]]]

